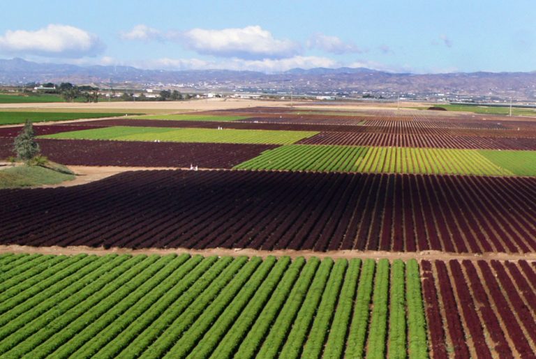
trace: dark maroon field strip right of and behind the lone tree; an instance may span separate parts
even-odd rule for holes
[[[59,126],[58,126],[59,127]],[[64,165],[232,168],[276,146],[38,139],[41,153]],[[13,139],[0,138],[0,158],[13,155]]]

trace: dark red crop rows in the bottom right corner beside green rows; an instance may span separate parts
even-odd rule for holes
[[[432,356],[532,357],[534,268],[527,261],[422,261]]]

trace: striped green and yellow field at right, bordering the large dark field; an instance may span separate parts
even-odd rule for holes
[[[508,152],[508,155],[503,155]],[[519,155],[519,158],[516,157]],[[536,151],[482,151],[447,148],[362,146],[282,146],[242,162],[236,169],[343,171],[398,174],[536,176]]]

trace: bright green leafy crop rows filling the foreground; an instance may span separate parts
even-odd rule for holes
[[[0,268],[6,358],[428,356],[415,260],[2,254]]]

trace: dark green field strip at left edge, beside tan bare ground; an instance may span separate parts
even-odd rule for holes
[[[66,121],[77,119],[96,119],[99,117],[117,116],[114,113],[108,112],[0,112],[0,125],[11,125],[16,123],[24,123],[29,120],[31,122],[44,121]]]

